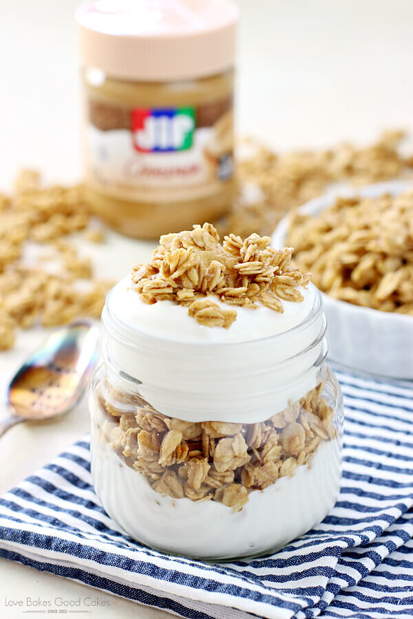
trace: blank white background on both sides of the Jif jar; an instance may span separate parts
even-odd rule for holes
[[[412,127],[410,0],[238,3],[239,129],[285,149]],[[21,162],[80,171],[76,4],[0,0],[0,181]]]

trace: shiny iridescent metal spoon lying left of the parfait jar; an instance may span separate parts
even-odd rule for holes
[[[10,417],[0,436],[23,421],[43,421],[70,411],[81,399],[98,358],[98,329],[76,321],[50,335],[12,378]]]

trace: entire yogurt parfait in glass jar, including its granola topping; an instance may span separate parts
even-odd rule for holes
[[[308,274],[269,237],[164,235],[107,297],[92,475],[107,513],[165,552],[273,552],[341,479],[343,406]]]

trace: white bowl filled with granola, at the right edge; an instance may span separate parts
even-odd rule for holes
[[[272,243],[297,244],[294,260],[322,291],[334,362],[413,378],[413,186],[391,181],[329,193],[277,226]],[[289,242],[289,241],[288,241]]]

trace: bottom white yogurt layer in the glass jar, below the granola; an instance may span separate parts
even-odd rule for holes
[[[105,510],[134,539],[176,554],[215,559],[273,552],[304,534],[334,506],[339,493],[339,439],[323,442],[310,466],[255,490],[240,512],[217,501],[172,499],[96,436],[92,474]]]

